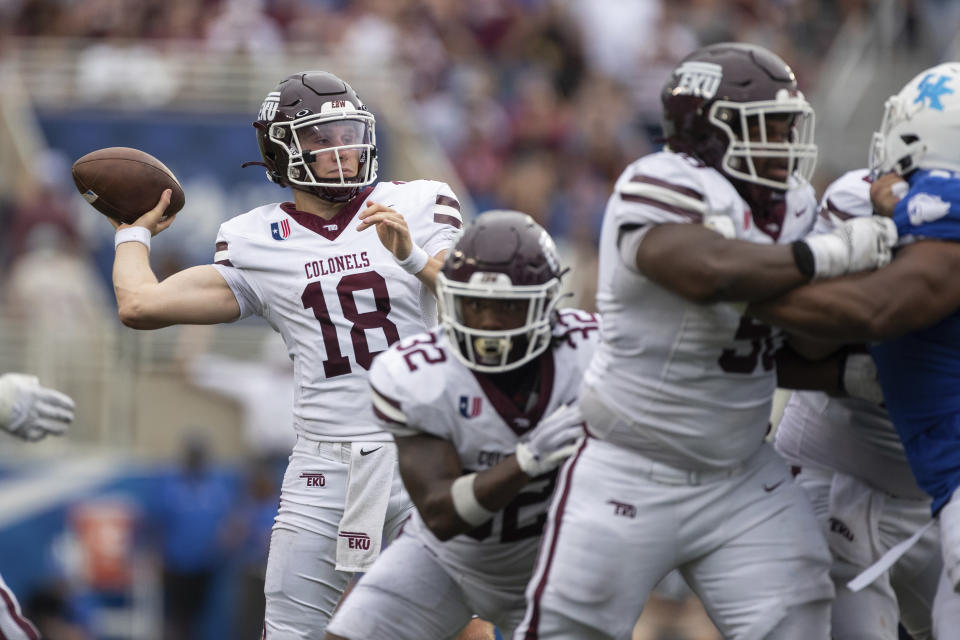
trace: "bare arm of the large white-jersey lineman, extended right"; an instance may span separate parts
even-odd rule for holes
[[[763,300],[810,280],[789,245],[731,240],[698,224],[661,224],[640,242],[637,269],[697,304]]]

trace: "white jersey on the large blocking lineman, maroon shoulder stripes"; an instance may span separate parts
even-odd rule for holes
[[[782,335],[729,304],[697,305],[647,279],[621,258],[620,234],[716,216],[736,238],[789,244],[810,231],[816,214],[813,188],[797,184],[787,192],[774,240],[757,228],[733,185],[692,158],[664,151],[624,170],[604,213],[597,285],[602,341],[585,382],[640,427],[626,446],[683,468],[747,459],[768,428]]]

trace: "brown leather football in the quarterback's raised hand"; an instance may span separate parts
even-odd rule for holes
[[[73,182],[100,213],[131,224],[152,209],[164,189],[172,189],[165,216],[183,208],[183,188],[173,173],[149,153],[130,147],[91,151],[73,163]]]

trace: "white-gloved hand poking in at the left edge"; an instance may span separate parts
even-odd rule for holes
[[[73,400],[40,386],[36,376],[7,373],[0,376],[0,428],[24,440],[60,435],[73,422]]]

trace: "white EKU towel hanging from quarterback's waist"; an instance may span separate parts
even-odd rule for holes
[[[347,498],[337,531],[337,571],[367,571],[380,555],[397,445],[353,442]]]

